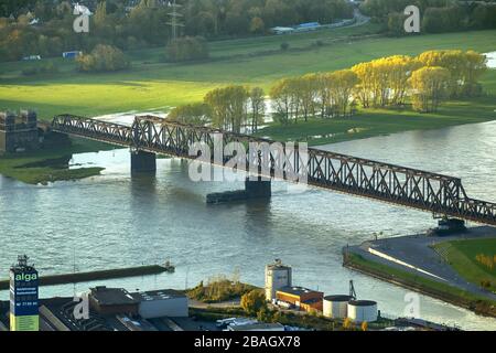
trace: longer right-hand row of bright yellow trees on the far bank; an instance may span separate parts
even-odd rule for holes
[[[364,108],[402,106],[435,111],[446,97],[476,96],[486,69],[484,55],[473,51],[430,51],[417,57],[395,55],[360,63],[351,69],[284,78],[270,96],[279,121],[353,115]]]

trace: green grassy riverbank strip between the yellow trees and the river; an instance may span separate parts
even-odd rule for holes
[[[496,69],[486,74],[487,96],[443,103],[435,114],[405,109],[359,109],[349,118],[316,119],[298,124],[270,124],[258,136],[278,141],[305,141],[310,146],[365,139],[410,130],[431,130],[496,119]]]

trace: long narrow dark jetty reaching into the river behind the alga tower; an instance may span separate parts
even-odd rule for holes
[[[53,276],[40,276],[40,286],[57,286],[77,282],[87,282],[91,280],[105,280],[126,277],[139,277],[160,275],[170,271],[170,268],[160,265],[139,266],[119,269],[108,269],[101,271],[76,272]],[[9,280],[0,280],[0,290],[9,289]]]

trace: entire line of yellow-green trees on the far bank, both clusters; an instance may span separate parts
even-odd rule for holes
[[[274,120],[288,125],[309,118],[342,118],[362,108],[401,107],[436,111],[448,98],[478,96],[486,57],[474,51],[429,51],[418,56],[393,55],[359,63],[347,69],[312,73],[278,81],[269,95]],[[177,107],[170,118],[256,132],[266,116],[259,87],[228,86],[209,92],[202,103]]]

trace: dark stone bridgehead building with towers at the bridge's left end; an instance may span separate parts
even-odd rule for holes
[[[0,113],[0,152],[36,150],[40,147],[37,116],[34,111],[22,110],[19,116]]]

